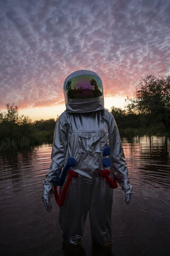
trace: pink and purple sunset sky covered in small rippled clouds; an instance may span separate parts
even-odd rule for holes
[[[0,109],[32,121],[65,110],[75,70],[98,73],[108,109],[141,76],[170,74],[169,0],[0,0],[0,21]]]

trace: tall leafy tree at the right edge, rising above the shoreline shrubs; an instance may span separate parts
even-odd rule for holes
[[[149,125],[170,124],[170,76],[148,75],[137,83],[134,99],[127,100],[128,113],[145,114]]]

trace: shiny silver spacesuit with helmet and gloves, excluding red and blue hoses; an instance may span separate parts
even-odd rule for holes
[[[120,135],[113,115],[104,108],[103,85],[96,73],[78,70],[67,76],[64,97],[66,110],[56,123],[52,164],[44,181],[43,201],[46,210],[50,211],[53,187],[67,159],[74,157],[77,164],[72,170],[78,173],[78,177],[72,179],[64,205],[60,207],[63,238],[77,244],[82,238],[89,212],[92,239],[101,245],[106,244],[111,241],[113,189],[100,176],[104,169],[105,146],[111,148],[110,177],[114,179],[115,175],[122,186],[127,204],[132,194]]]

